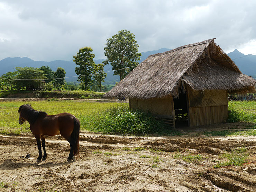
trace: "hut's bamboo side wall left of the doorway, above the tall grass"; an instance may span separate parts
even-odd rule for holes
[[[153,99],[129,98],[129,101],[130,109],[148,111],[156,115],[174,115],[173,99],[170,96],[166,98]]]

